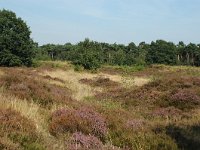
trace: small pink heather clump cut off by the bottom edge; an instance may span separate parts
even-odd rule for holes
[[[95,136],[84,135],[76,132],[72,135],[70,143],[66,143],[70,150],[100,150],[103,148],[102,142]]]

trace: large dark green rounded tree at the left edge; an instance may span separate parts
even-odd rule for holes
[[[33,41],[26,23],[14,12],[0,10],[0,66],[30,66]]]

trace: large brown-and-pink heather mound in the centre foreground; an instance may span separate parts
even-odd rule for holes
[[[85,134],[104,137],[107,133],[107,126],[105,119],[89,108],[60,109],[52,115],[50,131],[53,134],[80,131]]]

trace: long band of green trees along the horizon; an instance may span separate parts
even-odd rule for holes
[[[108,65],[191,65],[200,66],[200,44],[177,45],[164,40],[150,44],[131,42],[128,45],[100,43],[85,39],[78,44],[46,44],[36,47],[39,60],[66,60],[85,69]]]

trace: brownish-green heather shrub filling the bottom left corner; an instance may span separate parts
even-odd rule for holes
[[[28,149],[30,145],[40,145],[40,137],[37,135],[36,126],[31,120],[21,116],[20,113],[11,109],[0,109],[0,137],[1,147],[23,147]]]

